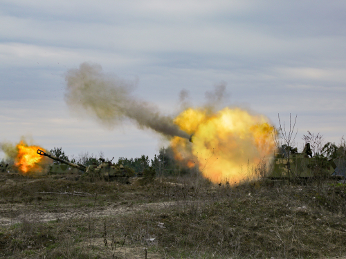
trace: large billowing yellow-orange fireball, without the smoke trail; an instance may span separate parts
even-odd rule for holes
[[[199,171],[215,183],[251,180],[255,177],[251,169],[275,149],[274,128],[268,119],[240,108],[216,113],[188,108],[174,123],[193,134],[193,144],[181,137],[172,139],[176,160],[189,167],[198,165]]]

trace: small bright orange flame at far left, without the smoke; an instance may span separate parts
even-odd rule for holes
[[[39,166],[39,162],[42,161],[42,155],[37,154],[37,149],[44,149],[40,146],[28,146],[21,140],[17,144],[17,157],[15,158],[15,166],[21,171],[21,173],[28,173],[33,171],[42,171],[42,167]]]

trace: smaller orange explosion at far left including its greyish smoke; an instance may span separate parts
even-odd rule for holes
[[[2,151],[8,158],[14,161],[14,166],[24,175],[43,173],[46,168],[47,160],[36,153],[40,146],[28,145],[25,140],[19,144],[1,144]]]

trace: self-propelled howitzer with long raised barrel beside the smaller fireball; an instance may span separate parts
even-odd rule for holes
[[[41,149],[37,150],[37,154],[50,157],[55,161],[59,161],[63,164],[55,164],[51,167],[51,173],[70,173],[74,169],[82,171],[84,175],[100,177],[104,180],[118,180],[120,182],[128,182],[128,178],[133,176],[131,169],[125,168],[122,164],[113,164],[111,161],[105,161],[100,158],[100,164],[93,164],[90,166],[84,166],[83,164],[73,164],[56,157],[55,155],[48,154]],[[114,157],[113,157],[114,158]]]

